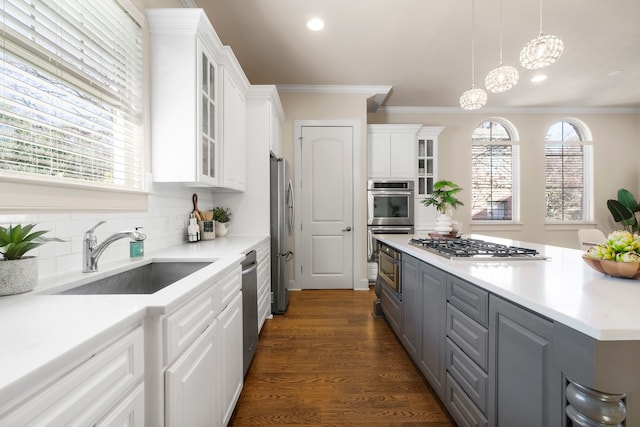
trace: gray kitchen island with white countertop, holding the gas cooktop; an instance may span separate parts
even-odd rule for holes
[[[574,249],[463,236],[546,258],[473,261],[411,237],[376,235],[402,253],[396,332],[460,425],[640,425],[640,281]]]

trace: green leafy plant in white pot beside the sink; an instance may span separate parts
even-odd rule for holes
[[[48,230],[32,232],[35,226],[0,226],[0,296],[32,290],[38,283],[38,260],[35,256],[25,254],[47,242],[63,241],[56,237],[45,237]]]

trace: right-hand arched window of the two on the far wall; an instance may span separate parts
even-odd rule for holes
[[[545,219],[584,222],[592,217],[591,134],[575,119],[552,124],[545,137]]]

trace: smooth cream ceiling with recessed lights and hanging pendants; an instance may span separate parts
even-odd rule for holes
[[[202,7],[252,84],[391,86],[383,107],[460,108],[471,88],[471,0],[185,0]],[[152,2],[152,1],[151,1]],[[538,35],[536,0],[476,0],[475,82],[503,63],[520,82],[486,107],[640,108],[640,1],[547,0],[542,27],[564,41],[532,83],[522,46]],[[319,16],[325,28],[306,21]]]

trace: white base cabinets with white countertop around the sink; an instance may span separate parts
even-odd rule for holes
[[[242,389],[240,263],[249,250],[268,257],[268,243],[230,236],[178,245],[0,298],[0,426],[195,425],[202,414],[226,424]],[[153,294],[57,294],[180,261],[210,264]]]

